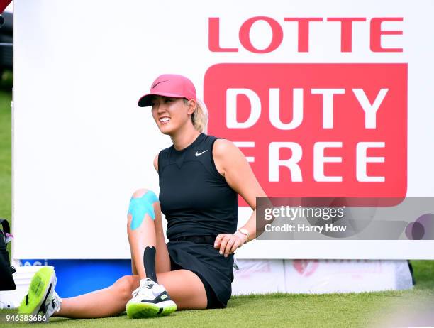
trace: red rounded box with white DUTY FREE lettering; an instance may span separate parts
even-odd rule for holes
[[[218,64],[204,101],[269,197],[406,196],[406,64]]]

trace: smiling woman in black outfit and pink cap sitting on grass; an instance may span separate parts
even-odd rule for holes
[[[161,75],[138,105],[173,145],[155,157],[160,198],[137,190],[128,209],[133,275],[109,288],[60,299],[55,273],[35,274],[19,312],[93,318],[167,315],[174,310],[226,307],[233,281],[233,253],[255,238],[255,211],[237,230],[238,194],[255,210],[266,197],[243,153],[230,141],[207,136],[207,112],[194,85],[181,75]],[[161,212],[167,219],[165,244]],[[131,297],[131,294],[133,297]]]

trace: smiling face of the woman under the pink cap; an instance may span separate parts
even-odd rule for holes
[[[180,126],[191,121],[191,101],[187,104],[183,98],[154,96],[152,98],[152,117],[160,131],[164,134],[172,134]],[[194,109],[193,109],[194,111]]]

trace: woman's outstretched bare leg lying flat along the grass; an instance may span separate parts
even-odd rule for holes
[[[178,310],[205,309],[207,305],[204,284],[189,270],[157,273],[158,282],[177,304]],[[62,300],[62,307],[55,316],[70,318],[111,317],[125,311],[131,293],[138,288],[140,277],[126,275],[109,288]]]

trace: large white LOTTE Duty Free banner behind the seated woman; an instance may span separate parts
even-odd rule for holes
[[[14,258],[130,257],[129,199],[141,187],[158,194],[152,160],[171,145],[137,101],[167,72],[194,82],[210,134],[255,143],[240,149],[269,196],[434,197],[432,1],[14,3]],[[241,89],[260,104],[243,128],[252,107],[236,103]],[[299,150],[298,174],[279,156]],[[433,249],[253,241],[238,258],[434,258]]]

